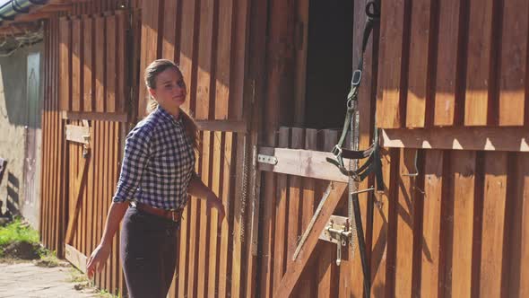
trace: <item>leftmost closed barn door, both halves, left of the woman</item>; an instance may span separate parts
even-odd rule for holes
[[[65,257],[82,271],[117,183],[131,88],[129,20],[126,11],[115,11],[59,21],[59,106],[68,141]],[[118,267],[116,241],[113,250],[107,270]]]

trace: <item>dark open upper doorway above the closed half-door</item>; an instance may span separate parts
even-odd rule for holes
[[[352,74],[352,0],[310,0],[305,125],[342,127]]]

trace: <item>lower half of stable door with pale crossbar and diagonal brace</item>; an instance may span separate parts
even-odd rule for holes
[[[325,161],[333,156],[329,151],[337,136],[336,130],[282,127],[276,148],[259,148],[266,185],[263,297],[334,297],[350,287],[351,276],[338,275],[336,260],[340,250],[340,265],[351,268],[351,246],[320,241],[332,215],[335,221],[347,216],[347,177]],[[360,258],[359,252],[354,258]]]

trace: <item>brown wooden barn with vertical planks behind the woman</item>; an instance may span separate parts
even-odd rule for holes
[[[189,201],[170,297],[529,296],[529,2],[381,0],[362,56],[368,2],[51,0],[2,23],[46,25],[43,243],[84,269],[163,57],[227,206],[218,226]],[[325,161],[360,57],[345,144],[378,136],[383,191]],[[95,282],[126,294],[118,237]]]

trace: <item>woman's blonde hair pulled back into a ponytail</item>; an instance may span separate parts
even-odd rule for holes
[[[147,68],[145,68],[145,72],[143,74],[145,86],[147,88],[156,89],[156,77],[158,76],[158,74],[162,73],[163,71],[169,68],[176,69],[178,73],[182,75],[182,72],[180,71],[178,65],[168,59],[158,59],[152,61],[152,63],[147,66]],[[153,110],[158,109],[158,106],[158,101],[154,100],[151,94],[149,94],[147,112],[151,113]],[[187,137],[189,137],[189,140],[191,140],[191,145],[193,145],[193,149],[195,149],[195,151],[198,150],[198,128],[196,127],[195,120],[181,108],[180,118],[182,118],[184,127],[186,127],[186,135]]]

